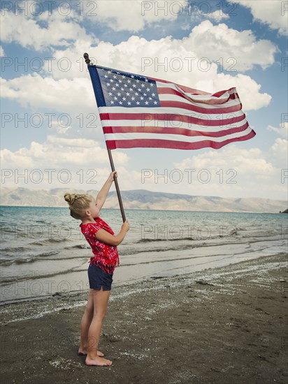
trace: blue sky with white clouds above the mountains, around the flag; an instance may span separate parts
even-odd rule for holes
[[[83,59],[214,93],[251,140],[115,149],[121,190],[287,200],[288,2],[1,1],[1,186],[99,190],[110,163]]]

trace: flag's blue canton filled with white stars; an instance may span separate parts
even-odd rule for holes
[[[120,71],[97,68],[107,107],[159,107],[154,80]]]

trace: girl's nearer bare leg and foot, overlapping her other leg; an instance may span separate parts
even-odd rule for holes
[[[92,289],[92,291],[94,313],[88,331],[87,357],[85,363],[87,365],[111,365],[112,362],[110,360],[98,356],[96,352],[99,344],[103,318],[107,311],[110,290],[103,290],[103,287],[101,287],[101,290]]]

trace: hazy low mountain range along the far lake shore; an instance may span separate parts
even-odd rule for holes
[[[22,205],[34,207],[67,207],[63,195],[66,189],[1,188],[1,205]],[[70,193],[97,194],[96,190],[71,190]],[[219,198],[218,196],[193,196],[178,193],[151,192],[145,189],[122,191],[126,209],[165,209],[175,211],[206,212],[268,212],[279,213],[287,209],[286,200],[265,198]],[[117,194],[108,194],[106,208],[119,208]]]

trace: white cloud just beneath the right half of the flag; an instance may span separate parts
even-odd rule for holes
[[[184,188],[193,195],[283,196],[282,185],[280,182],[276,184],[279,170],[269,156],[259,148],[243,149],[241,143],[228,145],[219,151],[194,154],[174,163],[174,166],[185,175],[186,183],[183,182],[180,189]],[[190,185],[187,183],[189,172]]]

